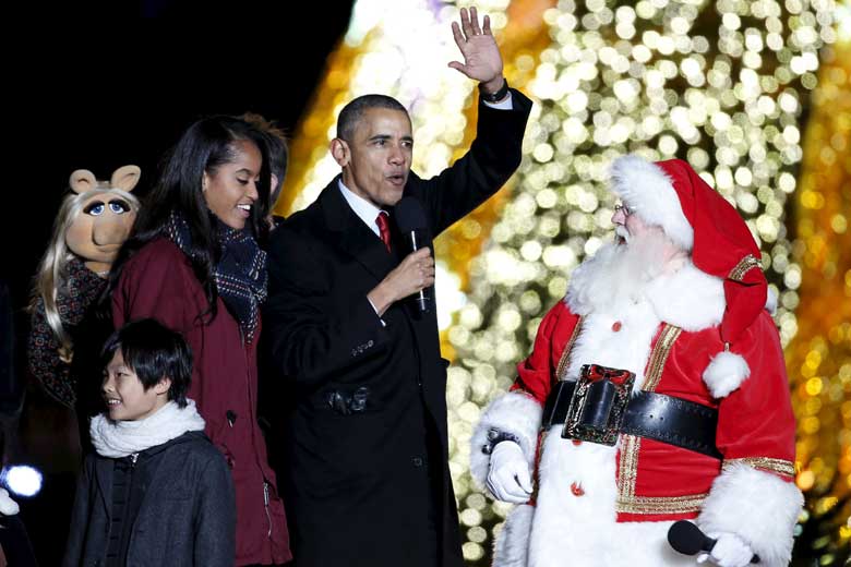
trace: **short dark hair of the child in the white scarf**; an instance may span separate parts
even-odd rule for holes
[[[164,377],[171,379],[169,401],[187,407],[187,391],[192,379],[192,350],[183,336],[153,318],[131,321],[112,333],[100,351],[106,369],[116,351],[121,350],[128,365],[147,390]]]

